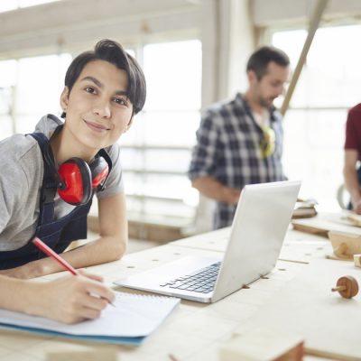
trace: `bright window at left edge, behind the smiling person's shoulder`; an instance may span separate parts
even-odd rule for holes
[[[31,133],[47,113],[60,114],[69,54],[0,61],[0,139]]]

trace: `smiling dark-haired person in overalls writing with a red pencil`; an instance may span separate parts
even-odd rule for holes
[[[53,301],[59,312],[45,316],[68,315],[74,321],[97,317],[106,306],[97,296],[113,297],[106,286],[94,281],[97,276],[71,276],[49,285],[14,278],[63,271],[32,245],[32,239],[38,236],[63,253],[72,241],[86,238],[94,194],[98,239],[62,257],[79,268],[124,255],[127,221],[116,141],[143,108],[145,93],[143,71],[136,60],[117,42],[97,42],[94,51],[80,54],[69,66],[60,96],[65,121],[43,116],[33,134],[14,134],[0,142],[0,307],[9,308],[12,297],[27,298],[32,293],[31,304],[18,300],[12,309],[39,314],[37,302]],[[61,295],[60,285],[74,292],[56,297]],[[67,313],[60,305],[68,301],[70,308],[76,307]],[[89,308],[93,313],[82,313]]]

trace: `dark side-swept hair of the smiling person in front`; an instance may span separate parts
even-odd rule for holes
[[[145,103],[146,85],[143,70],[138,62],[129,55],[118,42],[112,40],[101,40],[97,42],[94,51],[85,51],[72,60],[65,75],[65,86],[73,88],[74,83],[79,78],[81,71],[90,62],[95,60],[105,60],[125,70],[128,77],[127,97],[133,104],[133,113],[140,112]],[[66,113],[62,113],[62,117]]]

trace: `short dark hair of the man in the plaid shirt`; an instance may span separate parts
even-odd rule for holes
[[[273,46],[263,46],[251,55],[246,71],[255,71],[257,79],[261,80],[267,72],[268,64],[272,61],[285,68],[290,65],[290,59],[284,51]]]

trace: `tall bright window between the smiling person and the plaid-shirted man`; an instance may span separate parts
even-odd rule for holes
[[[197,203],[186,171],[199,125],[201,45],[197,40],[153,43],[139,58],[147,100],[120,140],[130,217],[187,224]]]

